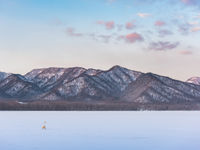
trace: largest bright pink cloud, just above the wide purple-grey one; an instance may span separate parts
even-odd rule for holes
[[[137,41],[143,41],[143,37],[139,33],[130,33],[127,35],[118,36],[118,40],[123,39],[127,43],[135,43]]]

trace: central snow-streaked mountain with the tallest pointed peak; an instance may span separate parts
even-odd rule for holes
[[[64,80],[42,98],[80,100],[116,98],[141,74],[120,66],[114,66],[108,71],[93,70],[92,74],[91,70],[89,71],[90,73],[86,70],[72,80]]]

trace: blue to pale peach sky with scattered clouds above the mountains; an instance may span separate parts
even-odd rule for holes
[[[200,76],[199,0],[0,0],[0,71],[109,69]]]

